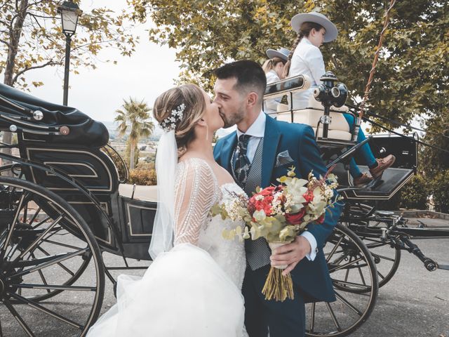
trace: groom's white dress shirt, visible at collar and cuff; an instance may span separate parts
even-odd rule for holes
[[[254,123],[248,128],[246,133],[243,133],[237,128],[237,139],[241,135],[249,135],[251,136],[250,140],[248,140],[248,147],[246,148],[246,157],[248,157],[250,163],[253,163],[253,159],[255,156],[255,152],[257,150],[257,146],[259,146],[260,140],[265,134],[265,123],[267,122],[267,115],[264,114],[263,111],[260,112],[257,119],[255,119]],[[315,260],[316,257],[316,239],[313,234],[310,232],[303,232],[301,234],[302,237],[305,237],[310,244],[311,251],[306,255],[308,260]]]

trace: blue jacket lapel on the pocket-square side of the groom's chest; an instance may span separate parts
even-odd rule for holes
[[[276,121],[267,115],[267,121],[265,122],[264,147],[262,151],[262,188],[268,187],[272,178],[279,140],[281,140],[281,132],[276,125]]]

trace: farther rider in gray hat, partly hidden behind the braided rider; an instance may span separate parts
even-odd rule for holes
[[[275,49],[267,50],[267,56],[269,59],[262,65],[262,69],[267,77],[267,84],[280,81],[285,78],[283,76],[283,67],[286,65],[288,60],[288,54],[290,54],[290,51],[287,48],[279,48],[277,51]],[[265,100],[264,112],[266,114],[276,113],[279,103],[281,103],[280,98]]]

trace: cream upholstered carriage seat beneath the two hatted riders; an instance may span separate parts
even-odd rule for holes
[[[293,121],[292,114],[290,112],[290,108],[288,105],[279,104],[278,105],[278,113],[276,114],[276,119],[278,121],[287,121],[288,123],[301,123],[307,124],[314,129],[316,133],[316,126],[320,120],[320,117],[324,114],[324,107],[320,102],[315,100],[314,96],[311,95],[309,98],[309,104],[305,109],[294,110],[293,111]],[[340,112],[332,112],[333,111],[341,111],[348,112],[349,109],[347,106],[343,105],[342,107],[330,107],[330,117],[332,120],[329,124],[328,138],[339,139],[339,140],[351,140],[351,133],[349,132],[349,124],[344,118],[343,114]],[[323,136],[323,124],[320,124],[319,129],[319,137]]]

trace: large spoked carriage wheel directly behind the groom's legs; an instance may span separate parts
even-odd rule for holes
[[[347,336],[373,311],[379,290],[376,267],[361,239],[341,224],[323,251],[337,300],[306,305],[306,334]]]

